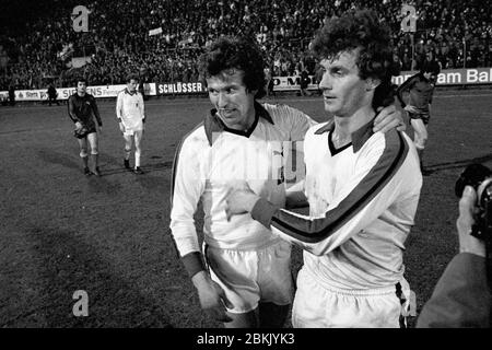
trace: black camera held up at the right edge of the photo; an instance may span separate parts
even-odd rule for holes
[[[455,186],[455,194],[461,197],[465,186],[472,186],[477,191],[476,224],[471,229],[471,235],[492,243],[492,171],[482,164],[471,164],[465,168]]]

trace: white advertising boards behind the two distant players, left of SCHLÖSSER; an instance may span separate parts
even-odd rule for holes
[[[116,97],[118,93],[124,90],[126,84],[118,85],[95,85],[87,86],[87,93],[93,95],[96,98],[104,97]],[[75,88],[58,88],[57,89],[58,96],[57,100],[68,100],[70,95],[73,95],[77,92]],[[144,83],[143,92],[145,95],[155,96],[155,83]],[[7,91],[1,91],[0,96],[2,98],[8,97],[9,93]],[[43,90],[15,90],[15,101],[47,101],[48,100],[48,89]]]

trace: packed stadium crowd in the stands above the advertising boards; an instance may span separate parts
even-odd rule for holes
[[[408,3],[418,11],[413,40],[400,30],[400,0],[45,1],[23,26],[0,24],[0,90],[45,89],[50,80],[71,86],[81,70],[91,84],[124,83],[131,71],[145,81],[196,81],[198,55],[222,34],[255,37],[272,75],[314,73],[308,44],[315,31],[352,7],[371,7],[390,25],[401,70],[418,68],[427,51],[442,69],[492,66],[492,20],[480,0]],[[90,10],[89,33],[72,30],[70,14],[78,4]],[[162,33],[150,36],[157,27]],[[72,55],[91,57],[91,62],[70,67]]]

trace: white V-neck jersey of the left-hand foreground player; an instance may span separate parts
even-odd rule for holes
[[[249,213],[226,219],[225,198],[244,182],[261,197],[284,206],[283,151],[304,139],[315,124],[285,105],[255,103],[256,120],[246,132],[224,128],[215,115],[186,136],[173,167],[171,229],[180,256],[200,252],[194,214],[201,200],[204,242],[220,248],[257,249],[279,238]]]

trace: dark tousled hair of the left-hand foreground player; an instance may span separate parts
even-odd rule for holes
[[[221,72],[242,70],[243,82],[248,91],[257,90],[255,98],[265,96],[263,55],[255,42],[246,37],[223,36],[199,58],[199,72],[204,79]]]

